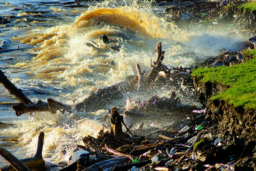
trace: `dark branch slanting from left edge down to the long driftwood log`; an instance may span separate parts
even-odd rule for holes
[[[13,94],[21,103],[23,104],[33,104],[23,93],[22,90],[18,89],[14,84],[12,84],[9,79],[6,78],[3,71],[0,70],[0,83],[5,87],[11,94]]]

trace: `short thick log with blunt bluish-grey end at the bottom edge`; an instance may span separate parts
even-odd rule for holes
[[[87,160],[90,157],[90,153],[85,150],[75,151],[72,156],[72,162],[65,168],[59,171],[81,171],[86,168]]]

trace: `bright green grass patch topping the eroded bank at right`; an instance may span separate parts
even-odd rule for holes
[[[253,59],[244,64],[232,67],[198,68],[192,76],[203,77],[203,82],[219,82],[231,87],[212,100],[225,100],[234,107],[256,109],[256,49],[245,51],[244,54],[253,55]]]

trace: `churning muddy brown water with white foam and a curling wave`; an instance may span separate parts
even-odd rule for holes
[[[7,1],[6,1],[7,2]],[[70,8],[67,0],[17,1],[0,4],[0,14],[12,23],[0,25],[0,40],[10,40],[8,49],[27,48],[12,52],[0,51],[0,68],[10,75],[16,87],[32,101],[52,98],[64,104],[75,104],[87,97],[90,91],[124,81],[136,75],[135,64],[148,73],[150,55],[160,41],[166,51],[163,64],[172,67],[189,67],[195,60],[218,55],[220,49],[236,51],[248,37],[233,29],[207,25],[192,29],[179,29],[166,18],[155,14],[162,9],[137,4],[136,1],[83,2],[84,8]],[[159,8],[159,9],[158,9]],[[41,11],[36,13],[34,11]],[[110,44],[99,39],[107,35]],[[180,46],[179,43],[186,46]],[[96,48],[87,46],[91,43]],[[121,46],[119,51],[110,46]],[[189,55],[190,54],[190,55]],[[155,56],[152,56],[155,60]],[[151,90],[147,93],[127,93],[115,105],[124,105],[126,99],[147,100],[157,94],[168,96],[171,90]],[[188,99],[180,98],[183,103]],[[52,115],[47,112],[16,117],[11,108],[18,101],[0,87],[0,122],[15,126],[1,129],[0,139],[16,137],[17,142],[0,142],[18,158],[35,154],[38,135],[45,133],[43,157],[47,162],[67,162],[76,144],[88,134],[97,136],[98,130],[109,121],[99,122],[108,116],[108,107],[95,113]],[[128,104],[127,104],[128,105]],[[170,124],[172,121],[166,121]],[[161,125],[156,125],[161,126]],[[106,128],[105,128],[106,129]],[[61,154],[66,149],[67,154]],[[0,158],[0,165],[6,164]]]

